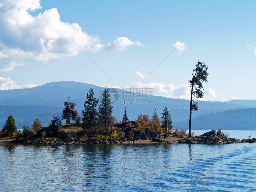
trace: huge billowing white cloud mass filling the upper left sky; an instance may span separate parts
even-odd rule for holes
[[[74,56],[81,51],[79,47],[94,52],[103,47],[99,37],[86,34],[77,23],[60,21],[56,8],[35,17],[29,14],[40,8],[40,0],[1,1],[1,71],[13,70],[26,60],[47,62]]]

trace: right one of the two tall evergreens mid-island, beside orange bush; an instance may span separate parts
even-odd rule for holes
[[[105,131],[107,131],[107,128],[112,119],[113,107],[111,105],[111,96],[109,91],[109,88],[104,88],[99,105],[99,122],[105,126]]]

